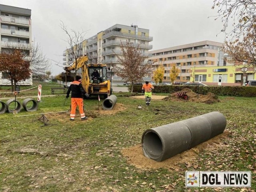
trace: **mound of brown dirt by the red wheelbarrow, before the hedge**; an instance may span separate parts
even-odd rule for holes
[[[212,104],[215,102],[220,102],[218,99],[218,96],[214,95],[213,93],[209,92],[206,95],[197,94],[193,92],[189,88],[184,88],[180,92],[187,92],[186,95],[188,96],[188,99],[185,100],[179,96],[177,96],[175,93],[170,94],[170,96],[164,98],[166,101],[192,101],[192,102],[200,102],[200,103],[206,103],[206,104]]]

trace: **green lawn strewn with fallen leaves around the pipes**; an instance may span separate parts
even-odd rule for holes
[[[22,109],[16,115],[0,114],[0,191],[202,190],[185,187],[186,170],[251,171],[251,190],[255,190],[256,98],[220,97],[221,102],[211,105],[153,100],[146,108],[144,100],[132,99],[129,95],[116,94],[117,102],[126,106],[126,110],[97,115],[86,122],[81,122],[79,116],[70,122],[68,114],[45,114],[50,119],[48,123],[53,125],[40,127],[43,125],[37,120],[40,115],[19,117],[68,110],[70,99],[65,100],[64,96],[43,97],[36,112]],[[137,110],[138,104],[142,104],[142,110]],[[85,100],[84,106],[90,114],[98,108],[98,100]],[[147,128],[212,111],[226,116],[226,130],[230,134],[222,140],[224,145],[218,150],[203,150],[195,162],[198,164],[196,168],[181,164],[178,171],[166,168],[144,170],[129,164],[121,153],[123,148],[140,144]],[[206,192],[218,190],[203,189]],[[241,188],[219,190],[238,192]]]

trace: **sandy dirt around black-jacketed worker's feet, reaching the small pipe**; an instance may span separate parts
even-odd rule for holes
[[[93,108],[93,110],[85,110],[85,115],[88,116],[88,119],[86,121],[90,121],[93,118],[97,118],[100,115],[111,115],[116,114],[117,112],[126,110],[126,107],[124,107],[123,104],[116,103],[115,106],[112,108],[112,110],[103,110],[102,106],[100,106],[100,111],[98,110],[98,107]],[[100,112],[100,113],[99,113]],[[46,114],[47,115],[47,114]],[[47,117],[48,118],[48,117]],[[56,113],[54,116],[51,116],[51,118],[58,119],[60,122],[66,122],[69,118],[69,114],[67,112],[64,113]],[[78,110],[76,110],[76,118],[80,118],[80,113]]]

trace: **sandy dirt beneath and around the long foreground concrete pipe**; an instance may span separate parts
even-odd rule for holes
[[[226,138],[228,134],[228,131],[224,131],[222,134],[162,162],[156,162],[146,158],[143,154],[141,144],[123,149],[122,154],[127,157],[128,163],[143,170],[167,168],[178,171],[182,166],[196,168],[198,167],[198,154],[203,150],[213,151],[223,147],[224,144],[222,144],[222,139]]]

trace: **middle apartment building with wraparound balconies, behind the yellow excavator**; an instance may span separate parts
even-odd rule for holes
[[[89,62],[93,64],[102,63],[106,64],[107,67],[120,67],[121,64],[118,62],[117,55],[122,57],[121,45],[126,45],[127,41],[132,42],[134,46],[140,45],[141,55],[145,57],[144,62],[147,62],[149,58],[148,50],[152,49],[149,42],[152,40],[148,29],[139,28],[137,25],[115,24],[84,40],[81,55],[87,54]],[[70,50],[65,50],[63,56],[65,66],[73,62]],[[112,79],[120,80],[115,72],[112,72]]]

